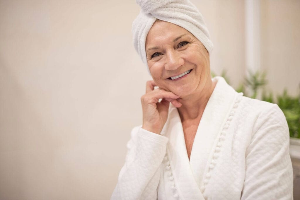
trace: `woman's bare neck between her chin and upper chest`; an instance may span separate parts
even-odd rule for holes
[[[216,82],[212,82],[210,76],[208,76],[201,91],[197,91],[179,99],[182,106],[178,108],[178,112],[182,122],[201,119],[205,106],[214,91],[215,85]]]

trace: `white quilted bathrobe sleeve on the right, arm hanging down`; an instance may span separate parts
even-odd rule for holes
[[[242,200],[293,198],[289,128],[277,104],[266,107],[256,119],[246,150]]]

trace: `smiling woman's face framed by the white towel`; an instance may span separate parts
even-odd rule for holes
[[[203,44],[173,23],[154,23],[146,38],[146,54],[157,86],[181,97],[201,92],[210,78],[209,55]]]

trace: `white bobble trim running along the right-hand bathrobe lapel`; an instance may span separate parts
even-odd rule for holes
[[[235,99],[235,103],[232,106],[231,112],[229,116],[227,117],[226,123],[223,126],[223,130],[221,131],[221,134],[219,136],[219,141],[217,143],[217,146],[214,149],[214,154],[211,159],[211,163],[208,166],[208,171],[205,175],[205,179],[203,181],[204,185],[200,187],[201,193],[203,194],[205,191],[206,186],[208,185],[209,178],[211,177],[211,171],[214,169],[214,166],[217,164],[215,160],[219,157],[219,152],[221,151],[221,147],[223,145],[223,141],[226,139],[226,131],[230,125],[231,120],[233,119],[233,115],[235,114],[235,111],[238,107],[239,102],[241,101],[241,96],[243,96],[243,93],[238,93],[238,96]]]

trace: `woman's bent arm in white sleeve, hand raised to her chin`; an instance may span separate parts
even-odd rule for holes
[[[131,132],[127,144],[125,165],[119,174],[118,184],[111,199],[156,199],[160,173],[158,168],[166,153],[168,138],[161,130],[168,118],[170,102],[180,107],[178,95],[156,88],[147,81],[146,94],[141,97],[143,128]],[[159,102],[159,99],[162,99]]]

